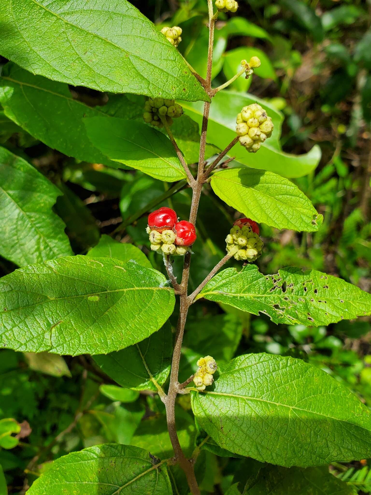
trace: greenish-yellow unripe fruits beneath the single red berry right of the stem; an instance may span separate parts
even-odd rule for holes
[[[263,250],[264,243],[250,225],[241,228],[234,225],[226,238],[227,252],[237,261],[255,261]]]

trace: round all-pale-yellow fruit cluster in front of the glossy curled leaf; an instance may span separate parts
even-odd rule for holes
[[[272,136],[273,122],[258,103],[244,106],[236,119],[238,141],[251,153],[256,153],[261,143]]]

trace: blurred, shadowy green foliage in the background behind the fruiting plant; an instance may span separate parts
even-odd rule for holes
[[[159,29],[182,27],[179,49],[204,76],[206,1],[134,3]],[[213,85],[230,79],[241,59],[259,56],[262,65],[255,74],[248,80],[241,76],[228,91],[248,91],[282,112],[280,145],[285,152],[303,154],[316,144],[322,151],[317,168],[293,181],[323,213],[324,224],[318,233],[261,225],[265,248],[258,265],[264,274],[294,265],[326,271],[365,291],[371,289],[370,12],[371,4],[359,0],[240,0],[236,14],[219,16]],[[91,106],[104,105],[108,99],[86,88],[70,90],[74,98]],[[197,126],[187,132],[194,141],[194,146],[188,142],[187,153],[196,161]],[[169,205],[186,218],[190,192],[184,184],[172,186],[132,169],[79,162],[47,148],[1,112],[0,143],[28,159],[62,189],[55,209],[67,224],[76,253],[86,253],[100,234],[108,234],[140,247],[153,266],[163,270],[161,257],[149,250],[145,213]],[[209,156],[215,150],[210,146]],[[141,216],[135,218],[138,211]],[[238,212],[205,190],[190,290],[224,255],[224,239],[236,217]],[[180,261],[175,262],[176,272]],[[0,258],[1,275],[15,268]],[[176,315],[171,323],[175,325]],[[371,406],[369,318],[327,328],[276,325],[265,315],[257,317],[201,300],[190,308],[181,380],[192,373],[200,355],[211,354],[222,361],[262,351],[291,355],[321,367]],[[183,445],[192,450],[202,432],[196,432],[186,396],[179,398],[178,416]],[[0,464],[9,494],[24,494],[50,461],[86,446],[132,443],[149,448],[154,455],[171,455],[164,421],[157,396],[115,386],[89,356],[63,358],[0,350]],[[154,431],[158,432],[155,441],[150,435]],[[204,447],[197,469],[203,493],[224,494],[232,483],[245,481],[246,460],[228,459],[215,445]],[[331,465],[330,470],[355,493],[363,494],[371,493],[369,466],[371,461],[365,459]],[[181,474],[174,472],[174,483],[177,476]],[[1,495],[3,487],[0,475]]]

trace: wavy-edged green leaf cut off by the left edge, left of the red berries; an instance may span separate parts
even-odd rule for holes
[[[72,254],[51,207],[61,192],[23,158],[0,148],[0,255],[19,266]]]

